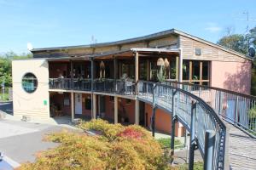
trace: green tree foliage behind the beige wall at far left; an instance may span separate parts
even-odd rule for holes
[[[15,54],[14,52],[8,52],[0,54],[0,84],[4,82],[6,87],[12,85],[12,59],[27,59],[32,58],[32,54]]]

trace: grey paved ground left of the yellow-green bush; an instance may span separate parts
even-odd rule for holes
[[[35,161],[39,151],[58,145],[43,141],[45,134],[61,131],[63,128],[66,127],[0,120],[0,151],[18,163]]]

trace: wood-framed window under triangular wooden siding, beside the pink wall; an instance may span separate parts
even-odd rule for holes
[[[183,82],[209,85],[209,61],[183,60]]]

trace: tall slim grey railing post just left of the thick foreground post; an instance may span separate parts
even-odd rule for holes
[[[192,100],[191,105],[191,124],[190,124],[190,145],[189,145],[189,170],[194,167],[194,154],[195,154],[195,114],[196,102]]]

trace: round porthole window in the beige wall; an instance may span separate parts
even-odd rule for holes
[[[22,77],[22,88],[27,93],[33,93],[38,88],[38,78],[31,72],[26,73],[24,77]]]

